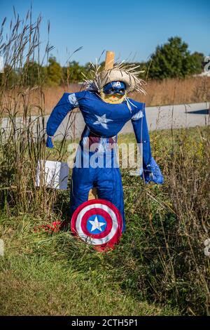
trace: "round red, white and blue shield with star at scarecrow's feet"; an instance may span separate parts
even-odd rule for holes
[[[120,211],[105,199],[84,202],[73,213],[71,231],[95,249],[113,248],[122,235]]]

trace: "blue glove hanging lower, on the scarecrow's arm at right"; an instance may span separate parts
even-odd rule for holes
[[[153,181],[154,183],[161,185],[164,182],[160,168],[153,157],[151,157],[151,161],[146,166],[146,169],[141,171],[140,176],[144,179],[145,183]]]

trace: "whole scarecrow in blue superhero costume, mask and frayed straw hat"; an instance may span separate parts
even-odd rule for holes
[[[95,188],[98,201],[106,201],[108,208],[112,205],[118,216],[120,214],[120,231],[124,232],[123,186],[119,166],[116,166],[114,146],[118,133],[127,121],[132,121],[137,143],[143,146],[143,167],[139,169],[139,176],[145,183],[153,181],[161,184],[163,178],[151,154],[145,103],[127,97],[127,93],[133,91],[144,93],[144,81],[139,79],[139,72],[134,65],[124,65],[123,62],[114,65],[113,62],[113,53],[106,52],[105,69],[97,67],[94,70],[94,77],[87,81],[88,87],[85,90],[64,93],[48,119],[46,145],[53,147],[52,137],[59,124],[66,114],[78,107],[83,114],[85,128],[71,178],[71,216],[78,213],[78,210],[81,211],[81,205],[88,200],[92,188]],[[91,162],[90,159],[94,161]],[[95,166],[96,163],[101,166]],[[94,201],[97,200],[91,203]],[[94,213],[90,213],[89,220],[86,219],[85,230],[89,230],[92,237],[102,235],[103,230],[107,230],[103,214],[101,212],[95,217]]]

